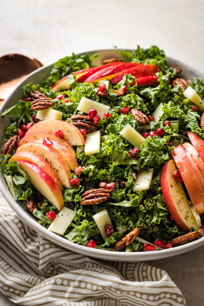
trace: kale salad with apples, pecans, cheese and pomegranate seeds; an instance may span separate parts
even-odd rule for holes
[[[204,232],[204,82],[156,46],[94,67],[56,62],[10,118],[1,173],[48,230],[109,251],[171,248]]]

